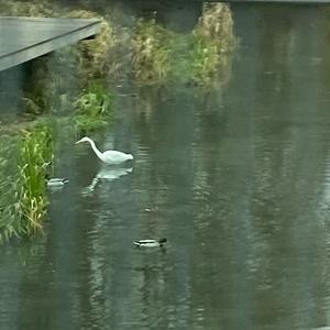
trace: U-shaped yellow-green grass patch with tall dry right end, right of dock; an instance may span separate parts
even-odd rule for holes
[[[168,81],[209,86],[231,65],[237,40],[229,7],[206,3],[191,33],[174,33],[154,19],[140,20],[133,35],[138,84]],[[226,75],[227,76],[227,75]]]

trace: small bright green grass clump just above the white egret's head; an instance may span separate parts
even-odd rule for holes
[[[108,124],[113,110],[113,95],[101,84],[91,84],[74,102],[75,125],[78,132],[88,133]]]

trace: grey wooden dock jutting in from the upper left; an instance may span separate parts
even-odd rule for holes
[[[99,33],[89,19],[0,18],[0,72]]]

